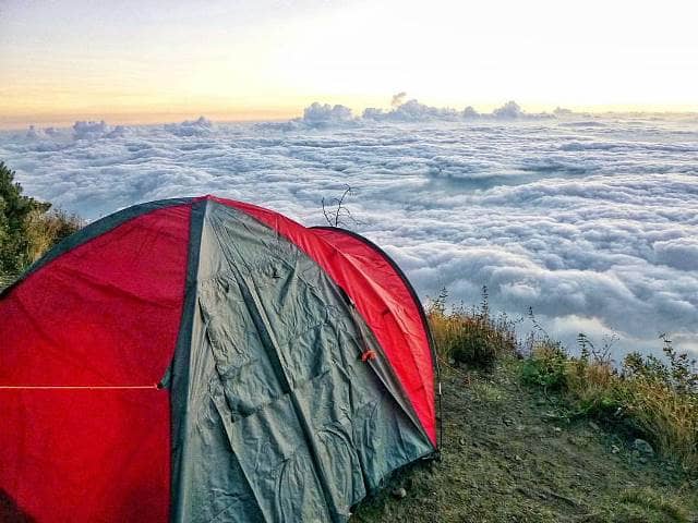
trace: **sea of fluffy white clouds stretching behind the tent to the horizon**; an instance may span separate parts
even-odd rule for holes
[[[669,332],[698,353],[698,117],[393,101],[276,123],[31,127],[0,133],[0,159],[27,194],[91,220],[217,194],[321,224],[323,197],[350,185],[345,224],[423,297],[445,287],[471,304],[488,285],[493,308],[532,307],[570,348],[615,332],[619,357]]]

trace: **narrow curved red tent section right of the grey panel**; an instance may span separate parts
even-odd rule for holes
[[[420,421],[436,445],[433,368],[429,327],[411,287],[385,253],[337,228],[306,228],[277,212],[251,204],[216,198],[254,216],[291,240],[351,296],[398,373]],[[364,239],[365,240],[365,239]]]

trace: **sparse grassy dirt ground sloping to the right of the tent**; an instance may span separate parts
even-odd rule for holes
[[[446,368],[443,461],[398,474],[352,522],[698,522],[698,482],[556,417],[556,398],[521,386],[518,365]]]

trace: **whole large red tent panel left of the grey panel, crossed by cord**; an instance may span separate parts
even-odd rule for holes
[[[0,300],[0,497],[38,521],[167,520],[169,397],[155,384],[179,332],[190,211],[136,216]]]

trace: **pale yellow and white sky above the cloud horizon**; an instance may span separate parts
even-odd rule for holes
[[[695,1],[0,0],[0,126],[312,101],[698,111]]]

